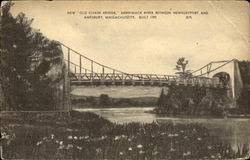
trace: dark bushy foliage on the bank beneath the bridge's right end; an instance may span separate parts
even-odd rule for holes
[[[171,86],[166,95],[158,99],[158,114],[223,116],[232,102],[220,89]]]

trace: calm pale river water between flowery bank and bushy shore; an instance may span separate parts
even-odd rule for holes
[[[210,134],[217,135],[230,142],[232,148],[237,151],[243,144],[250,147],[250,119],[247,118],[176,118],[159,117],[153,113],[153,107],[132,108],[84,108],[75,109],[81,112],[93,112],[111,122],[123,124],[129,122],[157,123],[172,122],[174,124],[199,123],[209,129]]]

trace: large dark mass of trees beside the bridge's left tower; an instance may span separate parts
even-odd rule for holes
[[[0,80],[4,106],[8,106],[5,109],[51,109],[55,88],[47,73],[53,65],[62,63],[60,46],[33,29],[33,19],[24,13],[13,17],[12,5],[7,2],[2,6],[0,22]]]

